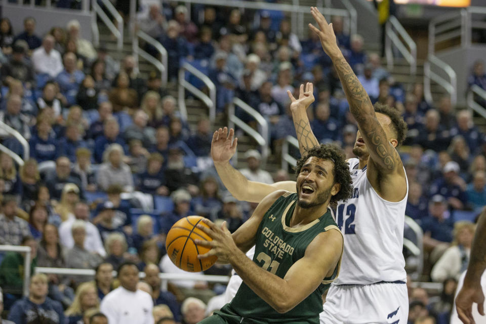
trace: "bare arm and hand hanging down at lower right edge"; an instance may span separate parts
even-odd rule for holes
[[[457,295],[456,307],[459,318],[465,324],[474,324],[472,303],[477,303],[477,311],[484,316],[484,294],[481,276],[486,269],[486,209],[479,216],[476,234],[472,242],[471,257],[464,277],[464,286]]]

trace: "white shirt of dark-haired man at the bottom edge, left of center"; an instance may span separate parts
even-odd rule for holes
[[[108,323],[153,324],[152,297],[141,290],[131,292],[118,287],[101,301],[100,311],[108,318]]]

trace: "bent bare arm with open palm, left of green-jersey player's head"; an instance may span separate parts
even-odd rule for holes
[[[228,191],[238,200],[260,203],[268,194],[276,190],[296,192],[295,181],[280,181],[266,184],[248,180],[238,170],[234,169],[229,160],[236,151],[238,139],[233,141],[234,130],[219,129],[213,134],[211,157],[221,181]]]

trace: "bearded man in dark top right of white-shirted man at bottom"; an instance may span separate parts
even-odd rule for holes
[[[167,305],[172,312],[174,319],[177,321],[181,320],[181,314],[179,311],[179,304],[177,303],[176,297],[168,292],[160,289],[160,270],[157,265],[149,264],[144,269],[145,272],[145,282],[152,288],[152,300],[154,305]],[[154,307],[155,310],[155,307]]]

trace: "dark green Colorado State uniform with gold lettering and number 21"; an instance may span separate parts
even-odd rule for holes
[[[331,228],[338,229],[330,210],[303,227],[289,227],[296,204],[296,193],[289,192],[279,197],[265,213],[256,234],[253,262],[280,278],[284,278],[290,267],[304,257],[307,246],[316,235]],[[326,247],[322,247],[322,253],[326,253]],[[244,319],[248,318],[249,322],[318,323],[319,313],[322,311],[322,294],[338,276],[340,264],[341,261],[334,269],[333,275],[325,278],[318,289],[285,314],[275,311],[245,282],[241,284],[227,307]]]

